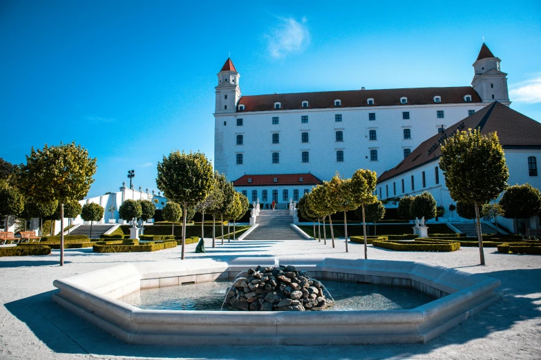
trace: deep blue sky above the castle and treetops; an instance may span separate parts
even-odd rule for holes
[[[541,121],[540,1],[3,0],[0,157],[75,141],[97,157],[89,196],[131,169],[156,189],[171,150],[212,159],[229,52],[243,94],[468,86],[483,37],[511,108]]]

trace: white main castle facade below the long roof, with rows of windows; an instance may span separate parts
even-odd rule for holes
[[[459,103],[215,114],[214,164],[230,180],[243,174],[306,172],[330,180],[336,171],[350,177],[359,168],[381,174],[404,159],[404,148],[415,149],[437,134],[442,124],[449,127],[468,117],[468,110],[484,106]],[[437,118],[437,110],[444,110],[444,119]],[[408,120],[402,119],[405,111],[410,112]],[[375,121],[368,119],[371,112],[376,114]],[[341,122],[335,121],[335,114],[342,115]],[[303,115],[308,116],[308,123],[301,123]],[[272,124],[273,117],[278,117],[278,125]],[[243,119],[243,126],[237,126],[236,119]],[[410,128],[411,139],[404,139],[404,128]],[[338,130],[343,132],[342,142],[335,141]],[[370,140],[370,130],[376,130],[377,140]],[[302,132],[308,132],[308,143],[301,142]],[[280,143],[272,143],[273,133],[279,134]],[[243,135],[243,145],[236,145],[238,134]],[[378,152],[377,161],[370,161],[372,149]],[[336,162],[336,150],[343,150],[343,162]],[[303,151],[310,153],[310,162],[301,161]],[[280,163],[272,163],[272,152],[280,154]],[[236,164],[237,153],[243,154],[242,165]]]

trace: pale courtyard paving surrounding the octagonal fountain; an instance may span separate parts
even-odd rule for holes
[[[234,241],[187,257],[227,259],[238,256],[363,257],[363,246],[344,241],[332,248],[319,241]],[[502,281],[503,297],[480,314],[426,344],[383,346],[215,346],[126,345],[50,300],[53,280],[132,261],[180,260],[178,248],[151,253],[94,254],[92,249],[59,250],[39,257],[0,258],[0,359],[541,359],[541,256],[499,254],[486,248],[486,266],[477,266],[477,248],[457,252],[395,252],[368,248],[370,259],[424,261]],[[310,329],[306,329],[310,332]]]

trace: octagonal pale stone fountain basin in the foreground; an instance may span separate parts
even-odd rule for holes
[[[182,283],[233,280],[274,257],[123,263],[55,280],[53,301],[126,343],[154,345],[326,345],[426,343],[500,298],[500,281],[411,261],[280,257],[312,277],[406,286],[438,299],[411,310],[216,312],[142,310],[121,297]]]

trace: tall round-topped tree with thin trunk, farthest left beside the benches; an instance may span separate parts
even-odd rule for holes
[[[83,199],[94,182],[96,159],[75,142],[45,145],[30,151],[21,168],[21,188],[35,201],[55,201],[60,206],[60,226],[64,229],[64,203]],[[60,232],[60,266],[64,265],[64,232]]]

